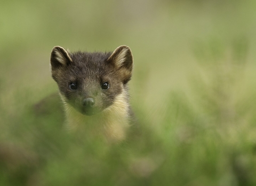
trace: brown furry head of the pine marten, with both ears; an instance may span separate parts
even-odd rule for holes
[[[132,52],[127,46],[119,46],[113,53],[70,53],[55,46],[51,53],[52,78],[63,102],[84,115],[99,113],[116,96],[126,94],[132,70]]]

